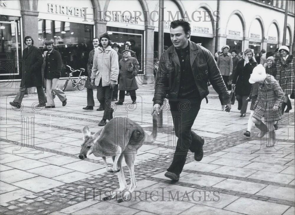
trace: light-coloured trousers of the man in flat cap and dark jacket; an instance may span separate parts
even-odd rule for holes
[[[66,100],[65,93],[58,88],[58,80],[59,78],[53,78],[53,79],[47,79],[46,81],[46,96],[47,96],[46,106],[55,106],[51,91],[53,91],[58,96],[61,102]]]

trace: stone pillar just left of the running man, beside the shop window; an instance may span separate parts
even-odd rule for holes
[[[142,77],[143,84],[151,84],[155,81],[154,69],[154,26],[145,27],[145,75]]]

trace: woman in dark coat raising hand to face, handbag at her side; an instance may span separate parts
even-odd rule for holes
[[[232,86],[235,87],[235,92],[238,101],[238,110],[241,111],[240,117],[246,116],[248,96],[251,92],[251,84],[249,83],[250,75],[257,66],[257,62],[253,57],[254,53],[251,49],[246,49],[242,59],[238,62],[236,72],[232,78]]]

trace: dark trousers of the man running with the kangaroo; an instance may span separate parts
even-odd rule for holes
[[[187,106],[189,107],[188,110],[183,110],[186,108],[184,107],[186,105],[182,105],[183,101],[169,101],[169,104],[178,140],[173,161],[167,171],[180,174],[186,162],[188,151],[196,152],[202,146],[201,137],[191,130],[191,126],[199,113],[201,101],[190,104],[190,107]]]

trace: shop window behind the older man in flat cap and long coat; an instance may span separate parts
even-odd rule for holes
[[[111,41],[120,45],[120,53],[122,53],[122,51],[124,50],[125,42],[131,44],[131,50],[135,52],[136,58],[140,65],[138,75],[144,75],[144,31],[117,27],[106,27],[106,29],[108,34],[110,35]]]

